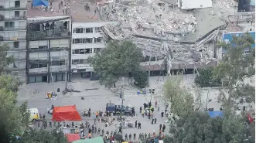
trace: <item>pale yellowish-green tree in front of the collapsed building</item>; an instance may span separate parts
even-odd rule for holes
[[[174,114],[194,110],[193,94],[180,84],[179,78],[169,78],[163,86],[165,100],[171,104],[171,111]]]

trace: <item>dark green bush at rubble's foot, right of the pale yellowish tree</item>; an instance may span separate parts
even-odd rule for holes
[[[195,83],[200,87],[219,87],[220,79],[213,79],[213,68],[198,69],[199,75],[196,75]]]

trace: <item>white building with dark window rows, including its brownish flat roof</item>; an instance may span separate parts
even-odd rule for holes
[[[106,46],[102,27],[110,22],[101,21],[96,5],[87,7],[90,10],[84,10],[83,5],[70,5],[70,9],[77,12],[72,15],[71,71],[74,75],[93,77],[94,70],[88,59]]]

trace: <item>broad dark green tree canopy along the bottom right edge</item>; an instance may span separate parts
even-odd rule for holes
[[[203,111],[181,114],[176,125],[171,124],[169,143],[243,143],[245,126],[239,117],[214,117]]]

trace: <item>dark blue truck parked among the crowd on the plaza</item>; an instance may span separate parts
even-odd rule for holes
[[[114,115],[119,115],[122,113],[127,116],[130,116],[132,114],[131,107],[125,107],[123,105],[114,105],[112,103],[107,104],[106,111],[113,113]]]

